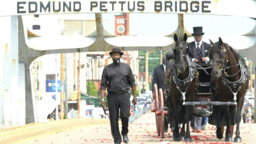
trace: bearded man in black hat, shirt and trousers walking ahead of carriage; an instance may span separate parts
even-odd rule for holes
[[[128,122],[130,117],[130,88],[133,90],[133,105],[137,103],[136,83],[133,72],[128,64],[121,63],[120,58],[123,52],[119,48],[113,48],[109,53],[112,56],[113,63],[104,67],[101,82],[101,105],[106,107],[104,95],[107,88],[107,104],[109,105],[109,117],[111,133],[115,144],[121,144],[121,135],[123,142],[128,143]],[[122,122],[122,131],[120,135],[118,119]]]

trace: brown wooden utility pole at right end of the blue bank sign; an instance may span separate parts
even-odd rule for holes
[[[64,108],[64,54],[61,54],[61,119],[63,120],[63,108]]]

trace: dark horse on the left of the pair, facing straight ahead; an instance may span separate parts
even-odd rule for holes
[[[198,75],[195,65],[189,60],[189,45],[186,43],[187,34],[183,39],[178,39],[174,35],[175,45],[173,47],[174,61],[168,69],[166,83],[169,88],[168,102],[173,110],[173,119],[175,127],[173,131],[174,141],[192,142],[189,122],[193,119],[193,106],[185,106],[185,102],[194,101],[194,93],[198,87]],[[183,123],[181,133],[179,133],[178,123]],[[186,132],[185,132],[186,124]]]

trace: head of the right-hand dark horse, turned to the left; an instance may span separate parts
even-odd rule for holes
[[[219,37],[219,41],[213,43],[209,40],[212,47],[210,50],[211,59],[213,59],[213,67],[211,69],[211,74],[213,77],[218,78],[222,76],[223,68],[227,63],[229,58],[229,49],[226,44],[223,43],[222,39]]]

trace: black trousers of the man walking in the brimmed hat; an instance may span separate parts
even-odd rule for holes
[[[114,142],[121,142],[122,137],[119,131],[119,109],[120,119],[122,122],[122,135],[128,134],[128,122],[130,117],[130,94],[128,92],[122,94],[108,93],[107,104],[109,105],[109,117],[111,133],[114,138]]]

